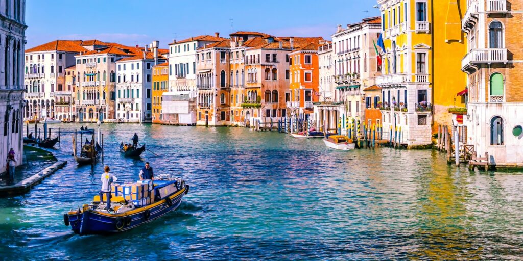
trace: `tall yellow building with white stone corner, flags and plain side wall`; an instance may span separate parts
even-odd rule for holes
[[[467,85],[461,71],[467,46],[460,30],[465,0],[378,4],[385,47],[384,75],[376,79],[383,129],[401,128],[401,141],[409,147],[430,145],[439,124],[451,125],[448,108],[464,106],[457,93]]]

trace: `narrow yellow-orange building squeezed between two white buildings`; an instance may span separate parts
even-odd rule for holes
[[[162,123],[162,94],[168,91],[169,63],[153,66],[152,112],[153,123]]]

